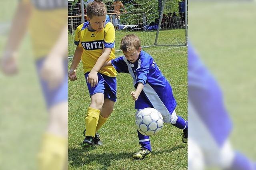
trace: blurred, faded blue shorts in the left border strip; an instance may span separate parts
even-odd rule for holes
[[[40,77],[40,71],[42,69],[45,59],[46,58],[44,57],[36,60],[36,69],[37,69],[38,77],[40,79],[47,109],[49,109],[58,103],[68,101],[68,79],[66,76],[64,76],[62,82],[60,83],[60,85],[58,85],[58,87],[56,87],[55,89],[49,89],[47,82],[43,80],[42,77]],[[65,75],[68,74],[66,69],[67,65],[68,65],[68,60],[63,60],[63,69],[66,72]]]

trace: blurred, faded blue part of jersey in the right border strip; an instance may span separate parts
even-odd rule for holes
[[[227,140],[232,122],[218,83],[188,44],[188,101],[219,146]],[[190,110],[188,114],[190,115]],[[192,114],[190,116],[193,116]]]

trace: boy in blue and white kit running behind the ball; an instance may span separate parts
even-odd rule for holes
[[[146,107],[157,109],[162,114],[165,123],[183,130],[182,141],[187,143],[188,122],[176,115],[176,100],[172,94],[172,87],[162,75],[154,59],[141,50],[140,39],[134,34],[124,36],[120,49],[124,56],[106,62],[105,66],[113,65],[117,72],[130,73],[132,76],[136,91],[130,94],[135,101],[136,114]],[[151,156],[149,136],[138,132],[138,138],[142,148],[133,154],[133,157],[142,159]]]

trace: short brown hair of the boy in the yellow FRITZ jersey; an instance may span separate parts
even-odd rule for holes
[[[87,16],[92,19],[94,16],[106,16],[107,14],[107,8],[105,4],[100,0],[95,0],[93,2],[90,2],[87,7]]]

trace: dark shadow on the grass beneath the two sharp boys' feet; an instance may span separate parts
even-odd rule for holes
[[[184,148],[184,145],[175,146],[169,149],[161,150],[161,151],[152,151],[153,156],[162,154],[162,153],[171,153],[174,152],[180,148]],[[119,152],[119,153],[111,153],[106,150],[107,153],[102,154],[96,154],[96,153],[90,153],[91,150],[97,149],[97,147],[92,147],[89,149],[84,148],[74,148],[74,149],[68,149],[68,161],[70,162],[70,166],[75,167],[83,167],[86,166],[86,164],[90,164],[90,162],[97,162],[98,164],[101,164],[104,168],[108,168],[111,166],[113,160],[126,160],[129,159],[133,161],[132,154],[134,152]],[[85,167],[84,167],[85,168]]]

